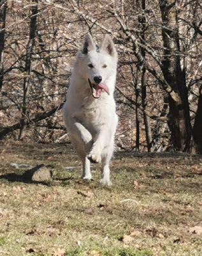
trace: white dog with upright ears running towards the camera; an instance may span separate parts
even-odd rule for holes
[[[117,73],[117,51],[109,35],[98,47],[85,36],[63,107],[69,138],[82,159],[83,179],[92,179],[90,162],[102,164],[103,184],[110,185],[110,159],[118,117],[113,92]]]

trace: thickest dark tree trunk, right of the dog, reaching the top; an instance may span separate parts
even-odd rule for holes
[[[175,93],[176,100],[169,96],[170,121],[173,147],[175,150],[189,152],[191,144],[191,120],[189,116],[188,92],[185,70],[180,65],[180,44],[178,38],[178,13],[173,0],[159,0],[162,17],[162,40],[164,60],[162,73]]]

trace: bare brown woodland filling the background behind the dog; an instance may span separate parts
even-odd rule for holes
[[[0,140],[68,141],[61,108],[89,31],[119,53],[118,149],[201,154],[199,0],[0,0]]]

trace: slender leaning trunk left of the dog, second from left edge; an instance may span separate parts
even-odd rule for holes
[[[34,38],[36,31],[36,14],[38,13],[38,1],[32,0],[33,5],[31,6],[31,20],[29,24],[29,41],[27,43],[27,52],[25,57],[25,68],[24,68],[24,82],[23,82],[23,103],[22,103],[22,118],[20,120],[20,134],[18,139],[24,140],[25,136],[25,125],[29,124],[29,109],[27,108],[27,102],[29,97],[29,77],[31,73],[31,58],[32,49],[34,46]]]

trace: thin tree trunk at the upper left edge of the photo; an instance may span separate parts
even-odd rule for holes
[[[6,0],[0,0],[0,92],[3,86],[3,52],[4,52],[4,35],[6,26]]]

